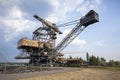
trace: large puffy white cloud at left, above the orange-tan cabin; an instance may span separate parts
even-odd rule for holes
[[[1,21],[5,25],[4,38],[6,41],[21,35],[23,31],[30,31],[35,26],[35,22],[24,18],[24,12],[17,6],[9,10],[8,14]]]

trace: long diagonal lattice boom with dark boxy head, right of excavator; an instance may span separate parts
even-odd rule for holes
[[[65,47],[67,47],[72,40],[76,38],[88,25],[99,21],[98,14],[91,10],[85,16],[83,16],[77,25],[67,34],[67,36],[56,46],[55,53],[60,53]],[[74,24],[74,23],[73,23]]]

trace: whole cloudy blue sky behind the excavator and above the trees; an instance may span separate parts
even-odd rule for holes
[[[0,62],[21,61],[14,59],[20,53],[17,41],[32,39],[32,32],[41,26],[33,15],[59,25],[80,19],[91,9],[99,14],[99,22],[83,30],[64,49],[64,56],[85,58],[88,52],[107,61],[120,61],[119,8],[119,0],[0,0]],[[58,35],[56,45],[74,26],[59,28],[63,34]]]

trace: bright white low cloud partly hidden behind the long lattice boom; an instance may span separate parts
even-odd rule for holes
[[[58,38],[57,38],[57,44],[71,31],[72,29],[66,29],[63,31],[63,34],[62,35],[58,35]],[[81,46],[84,46],[86,44],[86,41],[84,39],[80,39],[79,37],[76,37],[71,43],[70,45],[73,45],[73,46],[78,46],[78,47],[81,47]]]

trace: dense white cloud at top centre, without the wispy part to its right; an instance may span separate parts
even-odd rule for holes
[[[53,12],[46,18],[52,22],[65,20],[68,13],[75,11],[77,6],[81,5],[84,0],[50,0],[53,6]]]

